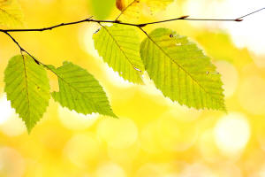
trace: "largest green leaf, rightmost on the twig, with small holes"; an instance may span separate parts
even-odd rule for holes
[[[220,74],[195,43],[158,28],[140,49],[149,77],[164,96],[188,107],[225,110]]]

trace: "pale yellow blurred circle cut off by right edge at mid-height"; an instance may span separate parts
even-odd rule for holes
[[[265,80],[258,75],[246,77],[239,87],[239,104],[254,115],[265,114]]]

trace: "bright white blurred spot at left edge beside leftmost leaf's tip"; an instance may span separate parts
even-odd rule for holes
[[[0,130],[8,136],[19,136],[27,132],[25,123],[18,114],[12,114],[10,119],[0,125]]]

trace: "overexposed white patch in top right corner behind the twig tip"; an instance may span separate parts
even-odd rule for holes
[[[235,7],[240,4],[240,8],[235,11]],[[188,0],[184,6],[185,12],[194,19],[229,19],[239,18],[249,12],[254,12],[264,7],[264,1],[242,1],[242,0]],[[227,21],[189,21],[195,27],[218,27],[225,29],[232,41],[239,48],[247,48],[256,54],[265,54],[265,25],[260,23],[264,19],[264,11],[246,17],[243,22]]]

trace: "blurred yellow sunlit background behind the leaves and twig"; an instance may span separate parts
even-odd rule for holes
[[[114,0],[20,0],[27,27],[85,19],[115,19]],[[141,22],[235,19],[263,0],[176,0]],[[14,34],[43,63],[70,60],[93,73],[119,119],[82,115],[52,99],[31,135],[4,95],[4,68],[19,53],[0,34],[0,176],[2,177],[265,177],[265,11],[243,22],[175,21],[170,27],[197,42],[222,74],[228,112],[171,103],[146,85],[121,79],[94,49],[95,24]],[[144,37],[142,35],[142,37]],[[52,89],[57,78],[49,73]]]

